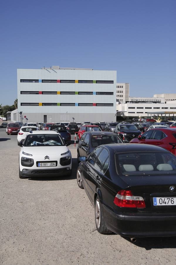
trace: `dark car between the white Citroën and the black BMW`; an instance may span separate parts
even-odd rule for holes
[[[112,143],[123,142],[113,132],[84,132],[77,147],[78,162],[80,156],[89,156],[97,146]]]

